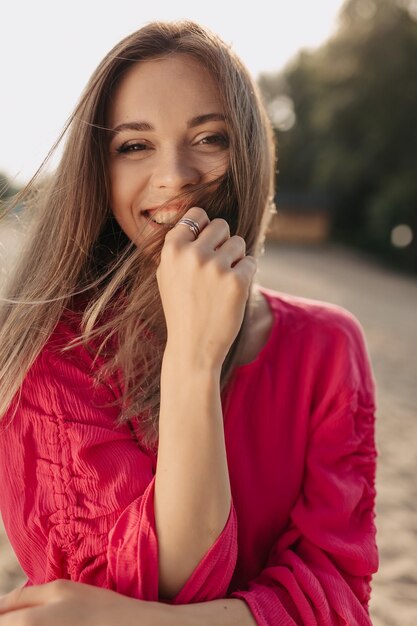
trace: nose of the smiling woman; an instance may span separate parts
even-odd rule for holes
[[[161,150],[154,161],[152,178],[155,187],[181,191],[201,182],[201,172],[191,155],[170,147]]]

